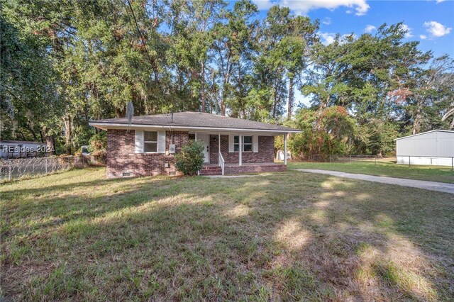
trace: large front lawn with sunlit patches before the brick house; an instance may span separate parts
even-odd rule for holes
[[[104,175],[0,187],[3,298],[454,298],[451,194],[302,172]]]

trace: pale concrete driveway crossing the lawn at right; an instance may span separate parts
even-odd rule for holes
[[[319,174],[328,174],[335,177],[344,177],[350,179],[361,179],[366,181],[375,181],[381,182],[382,184],[395,184],[397,186],[411,186],[413,188],[426,189],[431,191],[446,192],[454,194],[454,184],[447,184],[444,182],[436,181],[426,181],[426,180],[416,180],[416,179],[403,179],[395,177],[377,177],[374,175],[367,174],[354,174],[354,173],[345,173],[338,171],[330,170],[319,170],[319,169],[294,169],[295,171],[309,172],[309,173],[319,173]]]

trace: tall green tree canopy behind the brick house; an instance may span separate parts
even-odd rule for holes
[[[1,138],[57,152],[87,145],[90,119],[206,111],[304,133],[316,152],[387,154],[394,138],[454,128],[453,59],[405,38],[320,42],[319,21],[251,1],[1,1]],[[304,106],[294,91],[311,99]]]

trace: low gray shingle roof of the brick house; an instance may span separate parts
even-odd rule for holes
[[[128,124],[126,118],[106,118],[104,120],[90,121],[91,125],[96,124]],[[298,131],[281,125],[272,125],[248,121],[242,118],[230,118],[227,116],[216,116],[211,113],[201,112],[176,112],[171,114],[157,114],[155,116],[134,116],[132,125],[160,125],[176,128],[200,127],[200,128],[230,128],[230,129],[254,129],[254,130],[277,130],[277,131]]]

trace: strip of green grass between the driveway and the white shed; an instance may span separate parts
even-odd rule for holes
[[[384,177],[399,177],[441,181],[454,184],[454,172],[450,167],[412,166],[395,164],[390,160],[361,160],[349,162],[288,162],[289,169],[323,169],[349,173],[370,174]]]

